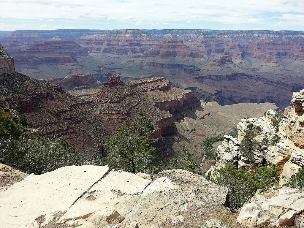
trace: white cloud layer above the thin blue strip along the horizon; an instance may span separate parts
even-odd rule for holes
[[[304,1],[103,0],[101,4],[93,0],[1,0],[0,15],[20,21],[54,20],[54,26],[57,26],[59,21],[64,23],[63,20],[103,20],[103,23],[108,21],[113,24],[126,21],[133,24],[142,22],[142,25],[146,26],[164,22],[170,25],[185,25],[190,21],[238,25],[255,22],[254,24],[267,25],[270,22],[276,24],[290,20],[290,24],[300,25],[304,23]],[[299,30],[301,29],[303,28],[299,27]]]

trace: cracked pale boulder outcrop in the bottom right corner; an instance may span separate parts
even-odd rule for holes
[[[283,187],[279,190],[259,189],[240,210],[237,221],[250,228],[272,226],[304,226],[304,192]]]

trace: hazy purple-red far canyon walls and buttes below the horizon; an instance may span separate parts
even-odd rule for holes
[[[282,110],[304,88],[303,31],[18,30],[0,43],[32,78],[164,77],[205,102],[275,102]]]

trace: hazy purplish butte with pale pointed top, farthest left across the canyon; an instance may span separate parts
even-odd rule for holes
[[[91,62],[99,67],[99,63],[88,56],[87,51],[71,40],[63,40],[55,36],[45,41],[37,41],[14,55],[16,68],[32,78],[54,78],[67,74],[88,72],[82,66]],[[78,59],[81,59],[81,63]]]

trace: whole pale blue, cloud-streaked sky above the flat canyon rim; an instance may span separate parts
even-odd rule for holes
[[[1,0],[0,30],[304,30],[304,0]]]

